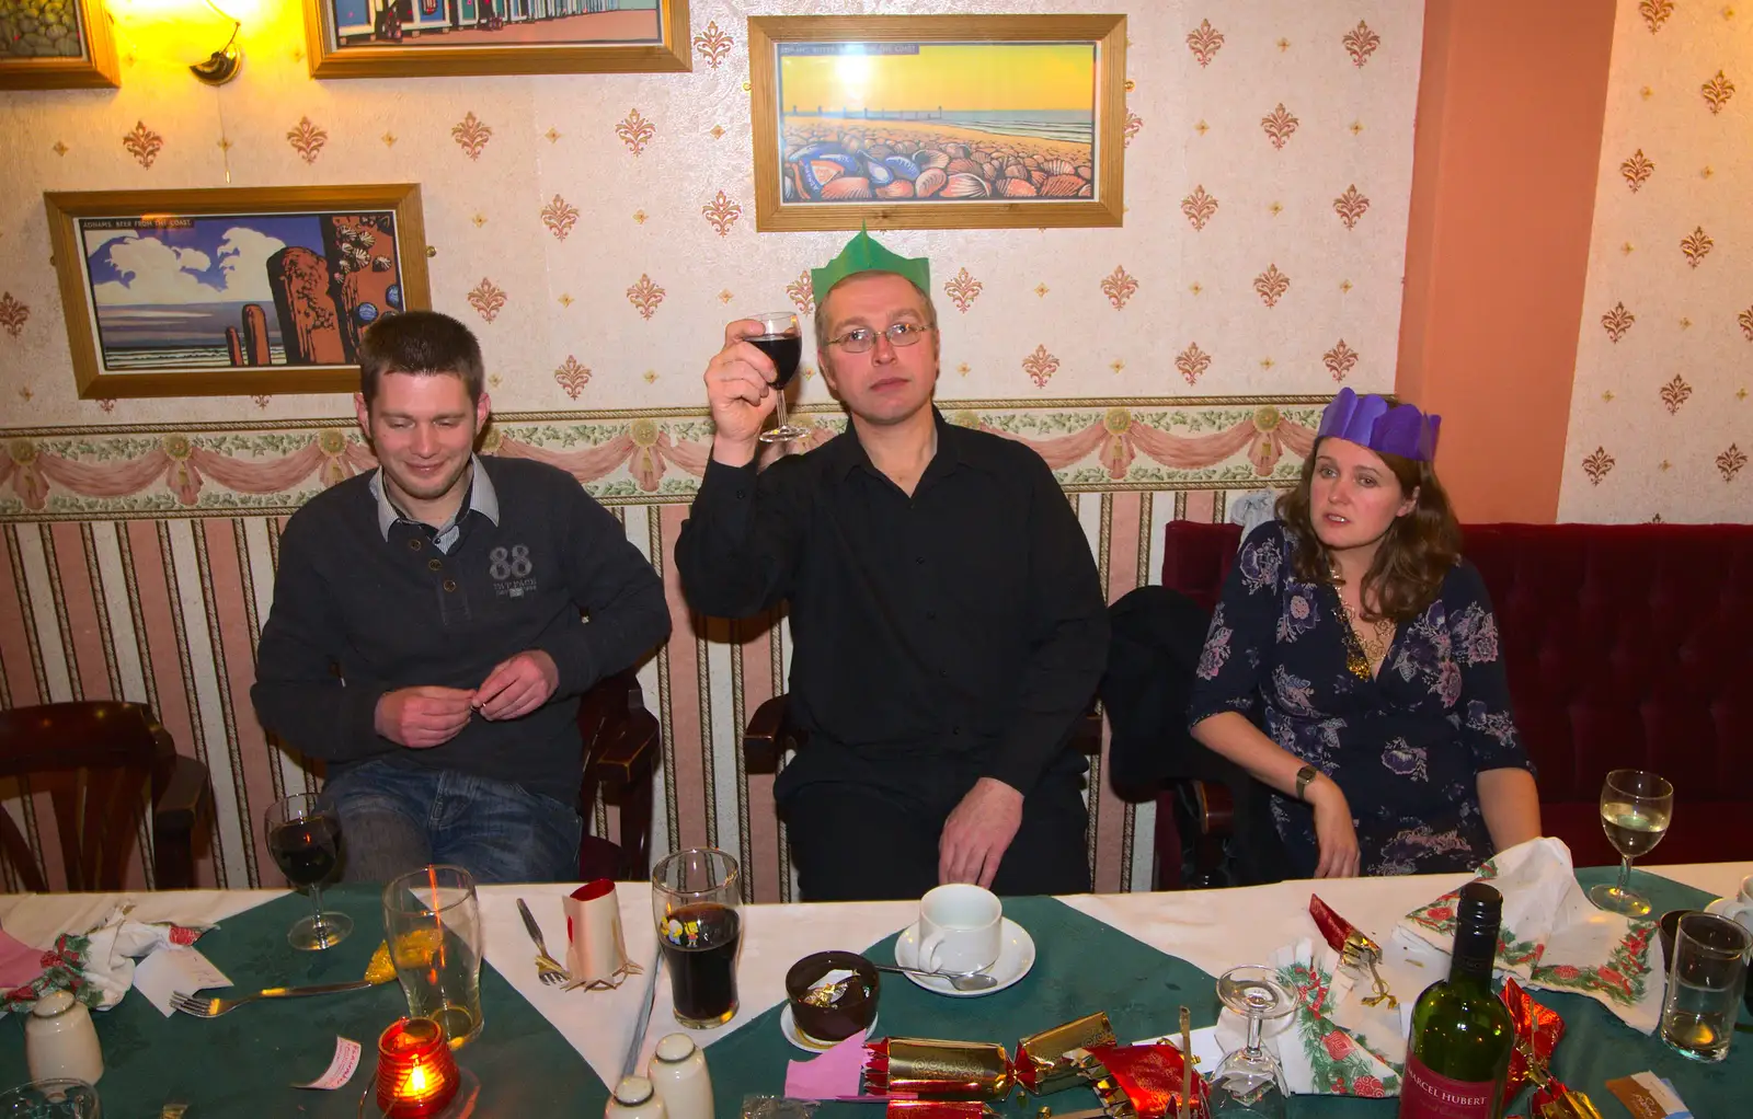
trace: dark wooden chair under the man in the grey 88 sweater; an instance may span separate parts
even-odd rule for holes
[[[657,716],[645,709],[633,669],[584,693],[578,737],[584,744],[578,814],[589,820],[601,795],[621,816],[615,841],[589,834],[578,841],[578,879],[643,879],[650,874],[652,771],[663,753],[663,734]]]

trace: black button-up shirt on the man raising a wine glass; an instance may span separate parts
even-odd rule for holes
[[[959,755],[1029,793],[1108,657],[1089,543],[1026,445],[936,417],[908,497],[848,427],[759,476],[706,466],[675,543],[689,604],[791,602],[791,713],[866,760]]]

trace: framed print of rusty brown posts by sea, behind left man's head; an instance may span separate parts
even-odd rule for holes
[[[431,306],[415,184],[44,194],[82,398],[352,392]]]

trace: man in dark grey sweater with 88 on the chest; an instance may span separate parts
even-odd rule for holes
[[[379,320],[359,385],[379,469],[286,524],[256,714],[328,760],[349,881],[575,879],[578,695],[670,632],[663,585],[571,475],[473,454],[489,401],[456,319]]]

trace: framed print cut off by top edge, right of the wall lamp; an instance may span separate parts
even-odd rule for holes
[[[691,70],[687,0],[303,0],[312,77]]]

